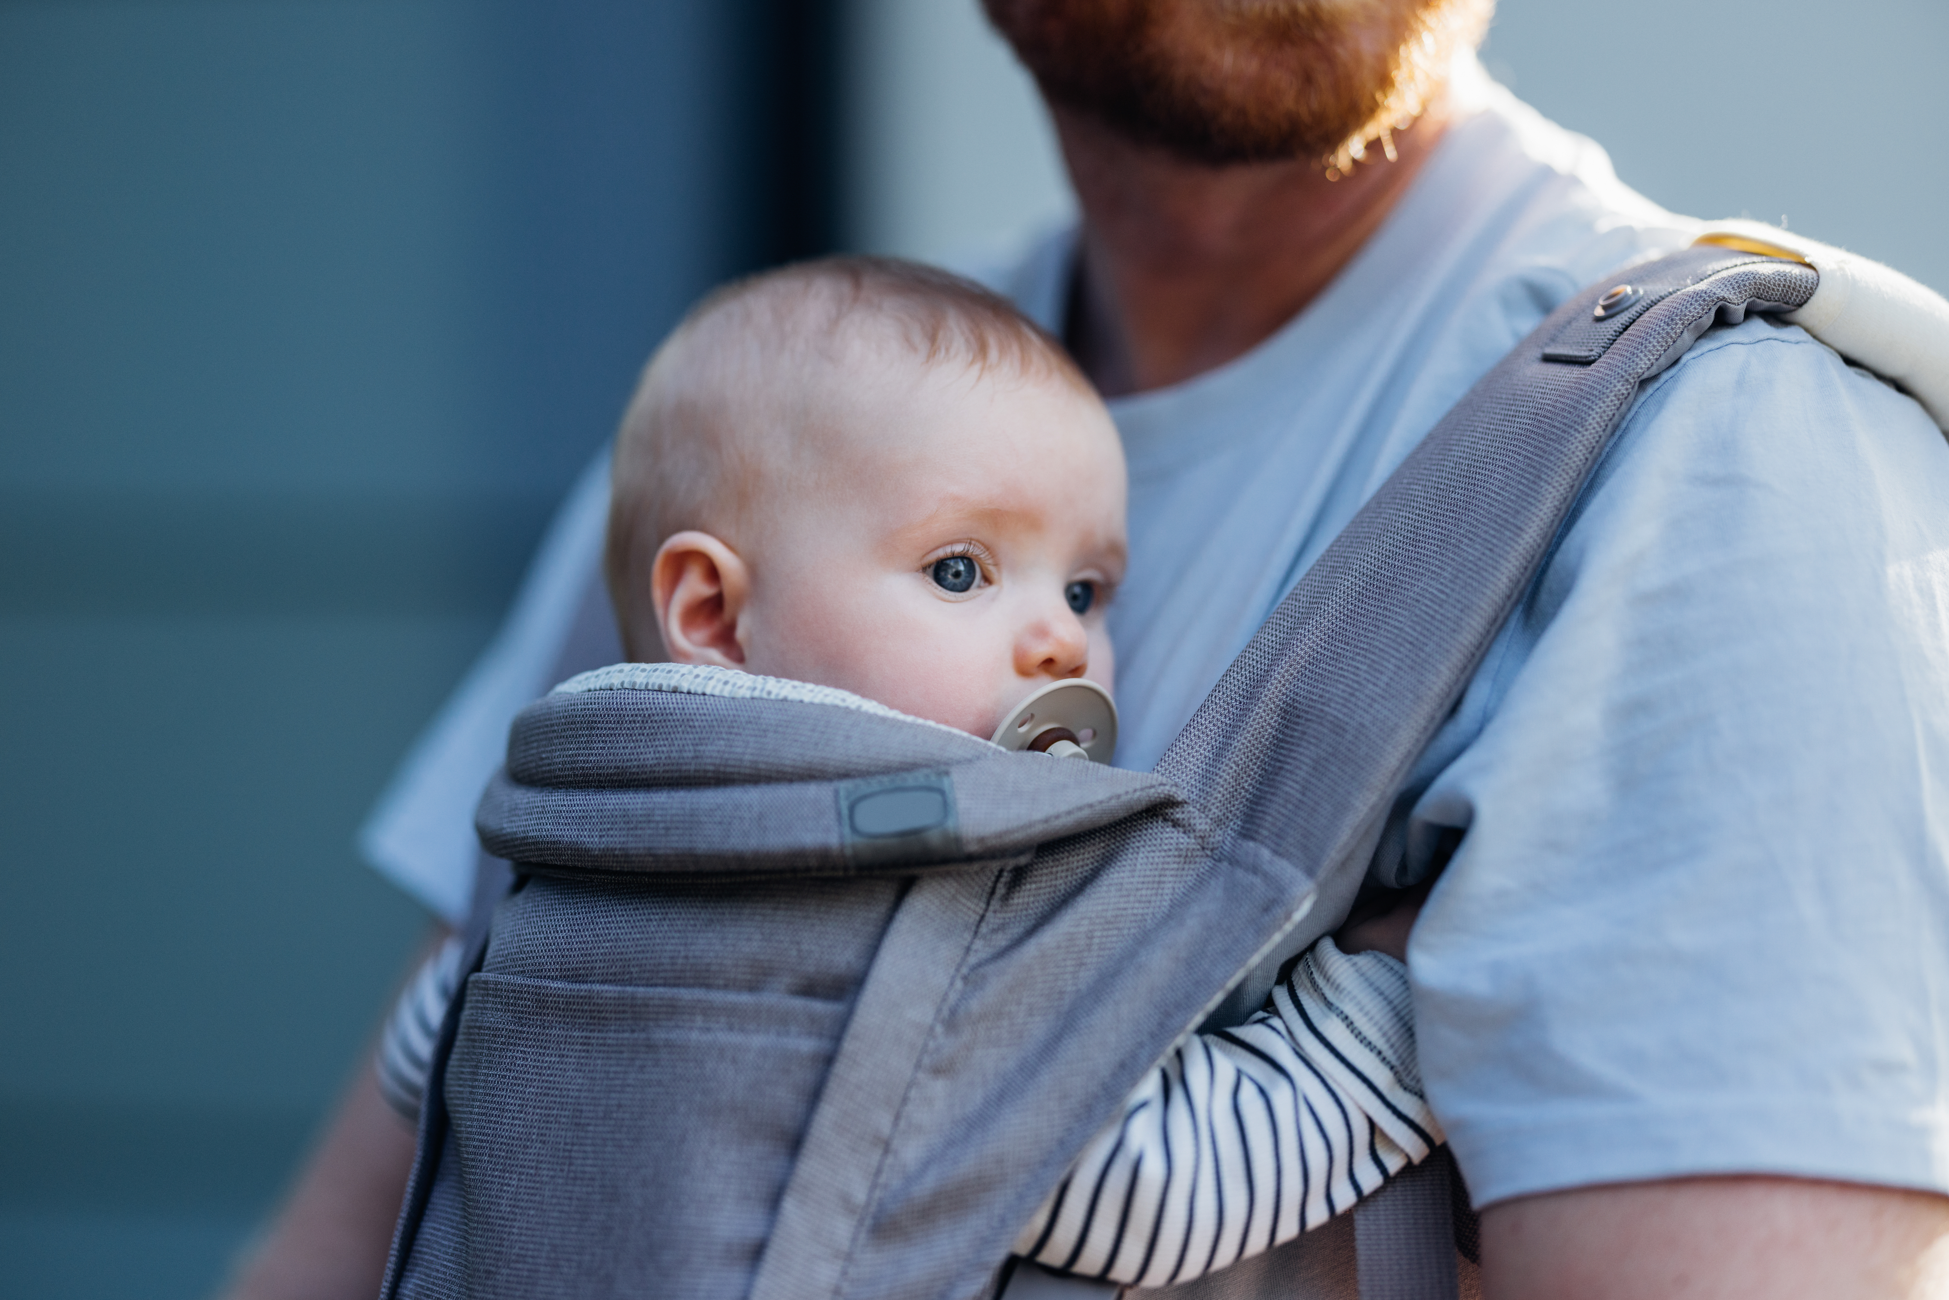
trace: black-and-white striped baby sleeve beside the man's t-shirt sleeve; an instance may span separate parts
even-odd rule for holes
[[[1015,1240],[1060,1273],[1164,1286],[1290,1242],[1442,1142],[1407,967],[1321,939],[1236,1029],[1175,1049]]]

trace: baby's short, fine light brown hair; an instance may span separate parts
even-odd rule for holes
[[[895,257],[821,257],[698,302],[657,349],[616,433],[604,571],[631,657],[655,651],[649,569],[665,538],[721,534],[830,437],[848,364],[881,357],[1093,392],[1008,298]]]

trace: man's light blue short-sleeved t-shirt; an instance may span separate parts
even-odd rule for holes
[[[1306,312],[1113,401],[1119,762],[1156,762],[1553,306],[1690,236],[1594,144],[1481,90]],[[1072,248],[984,279],[1060,327]],[[559,633],[530,624],[503,643],[542,672]],[[546,682],[505,686],[476,696]],[[462,776],[442,787],[485,768]],[[405,787],[388,817],[460,822]],[[1653,382],[1376,873],[1415,879],[1460,830],[1409,967],[1421,1072],[1477,1203],[1715,1171],[1949,1191],[1949,450],[1922,409],[1758,320]]]

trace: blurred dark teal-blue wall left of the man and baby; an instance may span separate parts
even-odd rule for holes
[[[780,2],[0,4],[0,1290],[209,1288],[353,1068],[427,924],[359,819],[830,226]]]

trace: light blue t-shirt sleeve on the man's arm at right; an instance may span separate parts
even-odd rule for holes
[[[1949,450],[1799,329],[1641,396],[1401,834],[1477,1204],[1949,1191]]]

